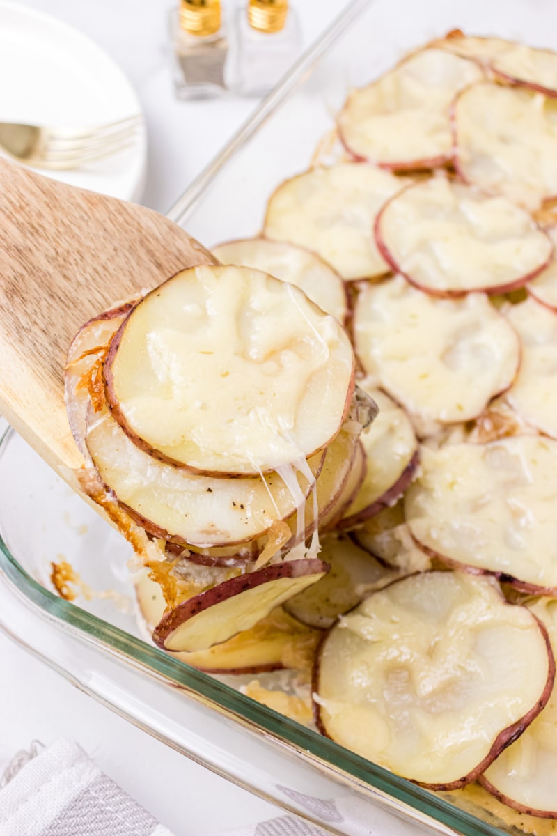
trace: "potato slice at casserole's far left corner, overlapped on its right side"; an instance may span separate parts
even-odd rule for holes
[[[482,79],[477,64],[442,49],[423,49],[354,90],[338,130],[352,154],[384,168],[442,166],[453,150],[449,105],[458,90]]]

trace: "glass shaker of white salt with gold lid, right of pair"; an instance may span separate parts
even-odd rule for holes
[[[230,87],[240,95],[271,90],[301,53],[301,30],[288,0],[249,0],[235,14]]]

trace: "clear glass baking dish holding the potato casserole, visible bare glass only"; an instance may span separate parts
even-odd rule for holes
[[[452,28],[557,48],[549,0],[357,0],[169,212],[211,247],[261,229],[266,200],[311,162],[352,86]],[[28,521],[33,520],[33,525]],[[0,628],[68,680],[185,755],[328,832],[518,833],[434,795],[243,696],[234,678],[150,645],[134,614],[127,545],[12,431],[0,441]],[[108,597],[54,594],[65,558]],[[460,806],[457,806],[460,805]]]

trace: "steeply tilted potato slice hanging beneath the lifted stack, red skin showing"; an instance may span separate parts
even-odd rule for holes
[[[165,613],[154,629],[154,643],[188,652],[220,645],[316,584],[327,570],[317,558],[290,560],[227,580]]]

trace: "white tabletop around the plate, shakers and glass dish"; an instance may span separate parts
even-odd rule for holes
[[[134,84],[149,130],[146,206],[160,212],[170,208],[256,104],[253,99],[174,99],[166,54],[168,0],[20,2],[94,38]],[[305,43],[330,23],[340,5],[297,0]],[[0,770],[33,739],[48,744],[70,737],[176,836],[239,828],[281,814],[131,726],[3,635],[0,660]]]

